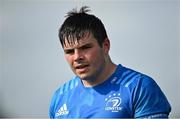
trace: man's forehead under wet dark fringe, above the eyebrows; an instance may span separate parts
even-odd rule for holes
[[[65,38],[65,42],[63,45],[64,49],[71,49],[71,48],[76,48],[76,47],[81,47],[86,44],[93,44],[97,43],[97,40],[94,38],[92,33],[85,33],[82,38],[78,39],[67,39]]]

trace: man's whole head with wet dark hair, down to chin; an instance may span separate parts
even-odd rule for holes
[[[59,30],[65,58],[73,72],[83,80],[96,79],[110,61],[110,43],[101,20],[87,14],[87,7],[73,10]]]

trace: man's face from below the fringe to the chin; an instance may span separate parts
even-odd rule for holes
[[[71,45],[65,40],[63,49],[73,72],[82,80],[93,80],[103,73],[109,46],[103,43],[100,47],[91,33]]]

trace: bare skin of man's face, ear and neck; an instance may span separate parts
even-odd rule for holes
[[[85,87],[104,82],[116,69],[116,65],[109,57],[108,38],[100,47],[92,33],[88,32],[78,42],[68,43],[65,39],[63,49],[65,59],[72,71],[82,79]]]

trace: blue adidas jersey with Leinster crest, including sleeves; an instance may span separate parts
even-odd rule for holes
[[[156,82],[118,65],[103,83],[84,87],[75,77],[61,86],[50,105],[50,118],[138,118],[168,116],[171,111]]]

